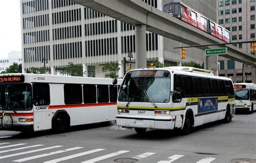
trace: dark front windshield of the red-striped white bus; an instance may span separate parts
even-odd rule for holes
[[[0,109],[30,110],[32,108],[31,84],[1,84]]]

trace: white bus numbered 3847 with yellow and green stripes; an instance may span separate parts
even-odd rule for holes
[[[123,79],[117,108],[117,125],[138,133],[180,129],[188,134],[193,126],[231,121],[233,82],[193,67],[134,69]]]

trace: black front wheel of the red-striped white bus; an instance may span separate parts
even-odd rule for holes
[[[58,114],[53,119],[53,131],[61,133],[68,130],[68,118],[63,114]]]

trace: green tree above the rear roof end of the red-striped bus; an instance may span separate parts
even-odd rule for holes
[[[106,73],[106,78],[117,78],[117,72],[120,69],[118,66],[119,64],[114,62],[105,63],[105,65],[102,67],[102,72]]]

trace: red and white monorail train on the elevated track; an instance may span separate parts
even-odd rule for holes
[[[230,31],[212,20],[194,11],[183,3],[171,2],[164,5],[164,12],[176,17],[184,22],[205,31],[212,36],[225,42],[231,42]]]

